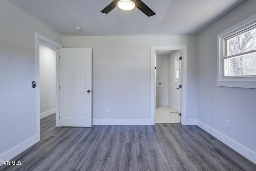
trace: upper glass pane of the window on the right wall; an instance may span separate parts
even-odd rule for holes
[[[256,50],[256,28],[227,40],[227,56]]]

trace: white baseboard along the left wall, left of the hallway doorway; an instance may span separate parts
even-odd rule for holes
[[[35,135],[34,137],[31,137],[30,139],[24,141],[23,143],[17,145],[16,147],[13,147],[12,149],[6,151],[5,153],[0,155],[0,161],[10,161],[13,157],[16,155],[22,153],[35,143],[40,141],[40,135]],[[2,163],[0,163],[0,166]]]

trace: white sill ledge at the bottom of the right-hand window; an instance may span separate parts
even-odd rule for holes
[[[256,81],[217,81],[217,85],[221,87],[239,87],[256,89]]]

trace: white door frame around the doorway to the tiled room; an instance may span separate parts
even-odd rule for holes
[[[187,125],[187,46],[151,46],[151,120],[155,121],[155,105],[156,105],[156,84],[155,84],[155,68],[156,68],[156,50],[181,50],[183,53],[181,60],[181,124]],[[153,124],[154,125],[154,124]]]

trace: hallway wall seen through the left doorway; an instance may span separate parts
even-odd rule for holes
[[[55,49],[40,43],[40,118],[55,113]]]

